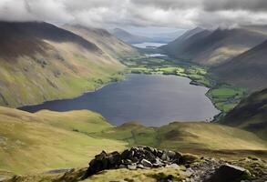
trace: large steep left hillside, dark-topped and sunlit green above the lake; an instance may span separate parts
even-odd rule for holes
[[[77,96],[124,68],[94,43],[44,22],[0,22],[0,40],[2,106]]]

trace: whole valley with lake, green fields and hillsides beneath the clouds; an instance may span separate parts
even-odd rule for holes
[[[122,32],[125,42],[141,44],[134,47],[105,29],[82,25],[0,27],[0,180],[56,181],[46,174],[71,167],[62,177],[80,175],[102,150],[139,146],[197,155],[199,165],[233,160],[254,178],[253,165],[260,162],[252,161],[262,161],[264,170],[262,32],[196,28],[167,45]],[[106,180],[106,173],[121,177],[124,169],[88,180]],[[153,177],[177,172],[147,169]],[[20,174],[26,178],[14,176]]]

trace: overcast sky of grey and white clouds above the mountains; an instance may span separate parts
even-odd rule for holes
[[[267,0],[0,0],[0,20],[182,31],[267,25]]]

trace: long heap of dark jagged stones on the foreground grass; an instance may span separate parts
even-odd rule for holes
[[[122,153],[106,153],[102,151],[90,161],[84,178],[90,177],[102,170],[124,168],[166,167],[171,164],[180,164],[182,155],[170,150],[159,150],[153,147],[131,147]]]

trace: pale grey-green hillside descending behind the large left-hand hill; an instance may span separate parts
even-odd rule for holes
[[[101,50],[115,58],[136,56],[139,54],[135,48],[125,44],[105,29],[89,28],[81,25],[64,25],[63,28],[84,37],[87,41],[94,43],[95,45],[98,45]]]

